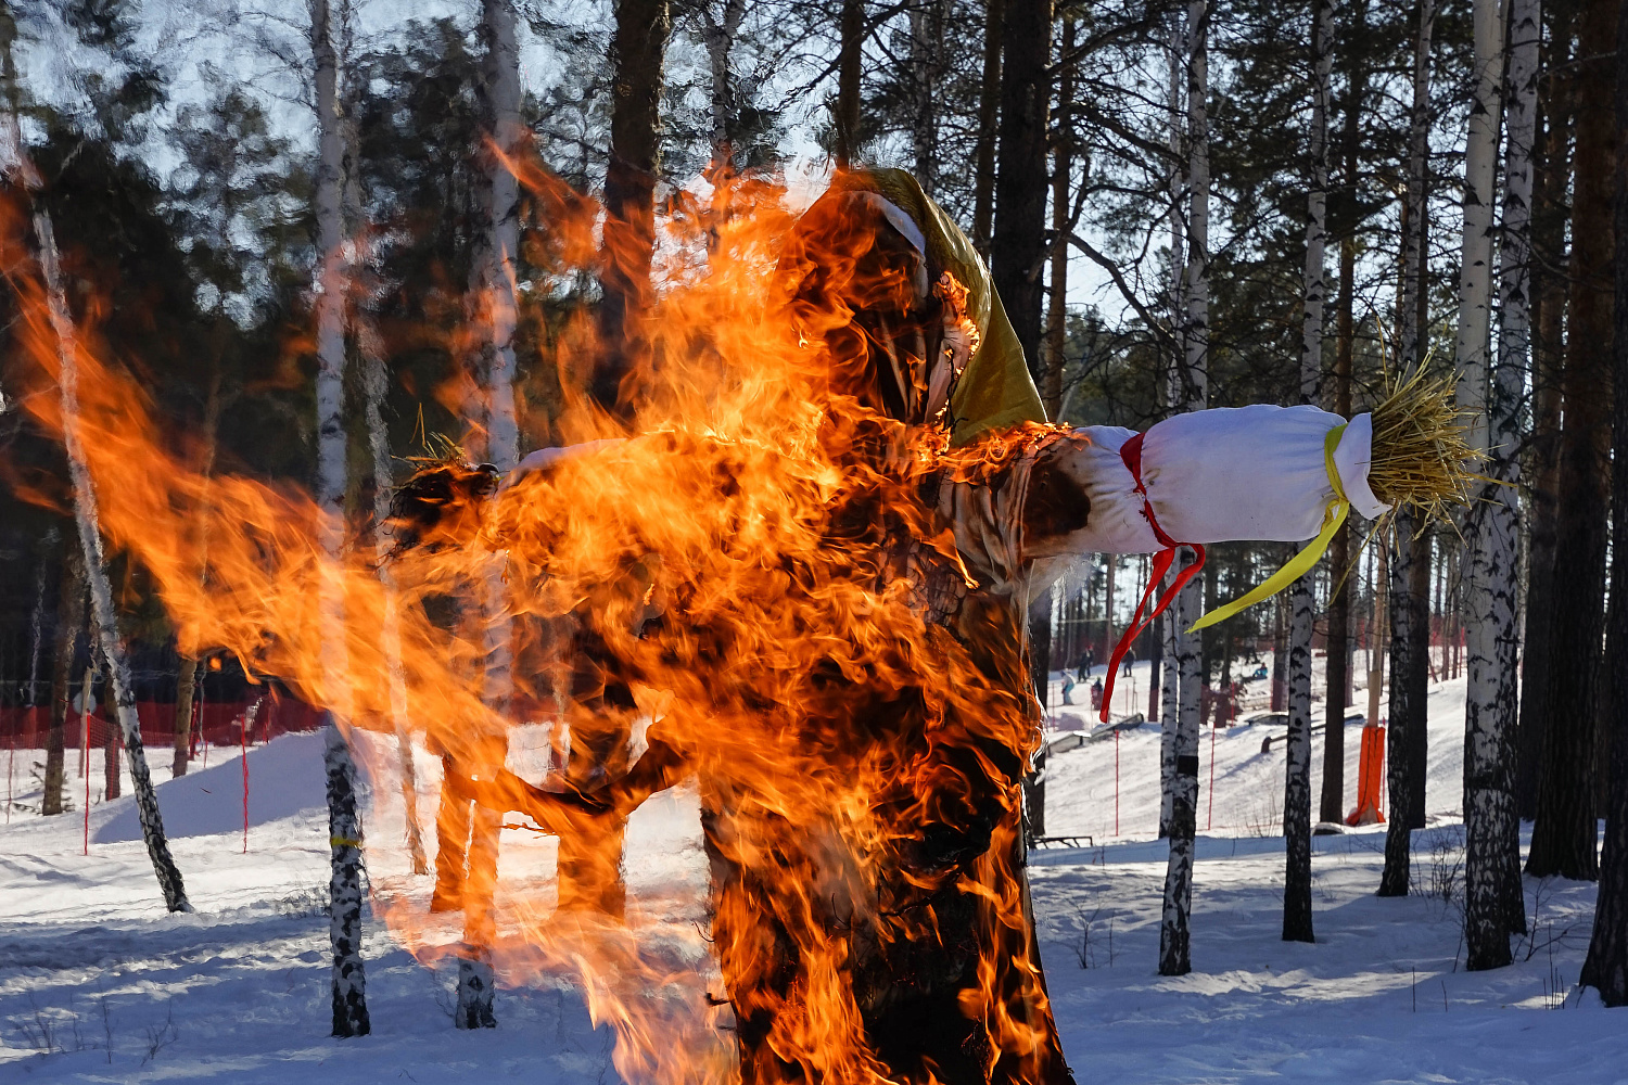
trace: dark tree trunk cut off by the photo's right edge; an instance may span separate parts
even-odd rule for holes
[[[1623,5],[1628,8],[1628,5]],[[1618,55],[1628,55],[1628,10],[1618,10]],[[1617,130],[1628,132],[1628,78],[1617,78]],[[1615,387],[1628,389],[1628,169],[1618,166],[1613,220],[1617,270],[1617,338],[1612,351]],[[1628,395],[1612,407],[1612,446],[1628,449]],[[1612,537],[1628,538],[1628,457],[1612,462]],[[1628,548],[1612,550],[1612,584],[1628,584]],[[1617,592],[1613,592],[1615,595]],[[1605,665],[1613,685],[1628,690],[1628,607],[1610,608]],[[1628,711],[1612,712],[1612,791],[1605,812],[1605,849],[1600,857],[1600,891],[1594,904],[1594,934],[1578,981],[1600,992],[1605,1005],[1628,1005]]]

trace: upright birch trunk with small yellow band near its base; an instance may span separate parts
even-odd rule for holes
[[[322,763],[327,776],[329,943],[335,1036],[366,1036],[366,974],[361,961],[361,820],[357,815],[357,765],[342,727],[350,726],[350,652],[345,597],[339,579],[345,543],[345,273],[344,132],[339,104],[339,54],[329,0],[311,0],[311,59],[316,67],[317,174],[316,224],[316,499],[319,537],[327,555],[317,605],[322,615],[322,682],[329,704]]]

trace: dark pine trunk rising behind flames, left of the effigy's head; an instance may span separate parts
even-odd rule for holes
[[[851,0],[850,0],[851,2]],[[641,395],[650,337],[650,265],[656,244],[663,62],[672,18],[667,0],[617,0],[610,37],[610,161],[599,301],[599,364],[589,394],[627,421]]]

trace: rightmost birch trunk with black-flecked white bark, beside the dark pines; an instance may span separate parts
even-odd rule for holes
[[[1485,13],[1481,8],[1488,8]],[[1477,106],[1472,125],[1486,158],[1496,155],[1496,99],[1486,102],[1490,117],[1478,119],[1485,83],[1498,89],[1503,29],[1498,5],[1485,0],[1475,8]],[[1483,23],[1486,24],[1483,28]],[[1512,0],[1509,5],[1509,99],[1506,102],[1509,142],[1504,161],[1504,221],[1499,293],[1503,330],[1491,374],[1480,377],[1483,425],[1472,434],[1485,457],[1485,483],[1472,504],[1468,604],[1468,680],[1464,704],[1464,802],[1465,802],[1465,963],[1470,970],[1501,968],[1511,961],[1509,934],[1524,926],[1521,900],[1521,839],[1514,808],[1514,729],[1519,704],[1516,688],[1517,649],[1517,509],[1519,412],[1530,345],[1530,254],[1532,254],[1532,140],[1537,130],[1538,2]],[[1486,52],[1483,52],[1483,47]],[[1491,168],[1472,163],[1477,172],[1465,194],[1465,246],[1472,229],[1470,200],[1485,194],[1491,203]],[[1470,164],[1467,164],[1470,169]],[[1485,185],[1483,185],[1485,181]],[[1490,207],[1488,207],[1490,211]],[[1477,226],[1490,213],[1475,218]],[[1491,224],[1486,223],[1488,233]],[[1488,237],[1490,242],[1490,237]],[[1490,244],[1488,244],[1490,247]],[[1488,264],[1491,254],[1488,252]],[[1486,325],[1477,319],[1485,366]],[[1464,382],[1477,379],[1460,368]],[[1503,485],[1499,485],[1503,483]],[[1517,911],[1521,914],[1517,914]]]

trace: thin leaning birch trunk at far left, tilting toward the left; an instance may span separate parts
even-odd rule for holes
[[[46,280],[50,325],[57,335],[57,350],[62,359],[62,374],[59,377],[62,390],[62,442],[68,452],[68,478],[73,483],[73,524],[78,529],[80,553],[85,558],[85,579],[90,584],[91,594],[91,618],[96,623],[96,638],[103,659],[107,660],[107,699],[112,701],[114,719],[117,719],[119,730],[124,735],[124,752],[130,763],[130,791],[135,792],[135,810],[142,823],[142,839],[147,843],[148,859],[153,861],[158,888],[164,893],[164,906],[169,911],[192,911],[192,904],[187,903],[186,887],[181,883],[181,870],[176,869],[176,862],[169,856],[169,841],[164,838],[164,820],[158,812],[158,795],[153,791],[153,778],[147,771],[142,721],[135,714],[135,688],[130,685],[129,664],[119,651],[112,584],[107,581],[101,529],[96,516],[96,490],[91,485],[90,467],[85,462],[85,447],[80,444],[77,333],[73,317],[68,312],[68,299],[63,293],[62,272],[57,265],[57,239],[50,228],[50,216],[44,210],[34,213],[34,234],[39,239],[39,265]],[[88,766],[86,771],[90,771]]]

